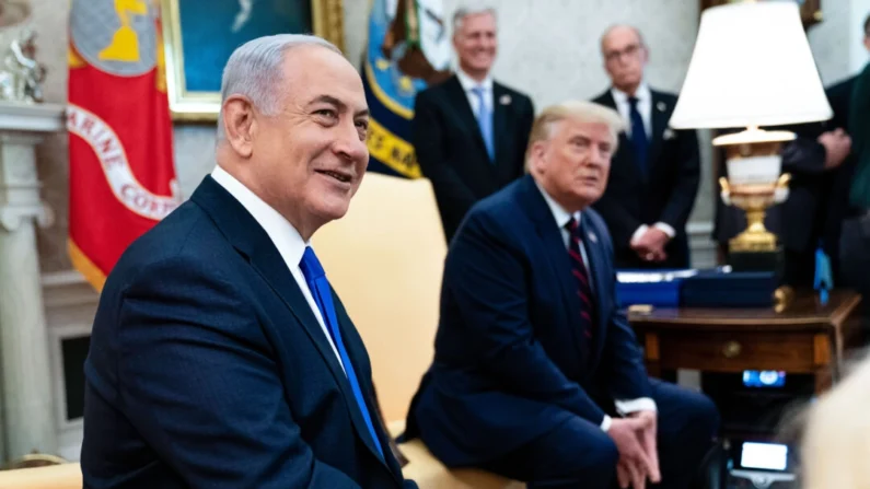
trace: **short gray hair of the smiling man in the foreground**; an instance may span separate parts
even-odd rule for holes
[[[244,95],[264,114],[275,115],[281,96],[285,53],[295,47],[322,46],[337,54],[341,50],[321,37],[303,34],[278,34],[257,37],[237,47],[223,69],[221,109],[218,115],[218,141],[223,130],[223,103],[232,95]]]

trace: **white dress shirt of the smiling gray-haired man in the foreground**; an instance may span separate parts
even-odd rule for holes
[[[299,231],[297,231],[283,216],[278,213],[278,211],[272,209],[268,203],[264,202],[263,199],[257,197],[256,194],[235,179],[235,177],[227,173],[225,170],[216,166],[214,171],[211,172],[211,177],[214,178],[214,182],[221,187],[227,189],[230,195],[235,197],[239,203],[251,213],[263,230],[266,231],[266,234],[269,235],[272,244],[278,248],[281,258],[283,258],[285,264],[287,264],[287,268],[290,269],[290,273],[293,276],[293,279],[295,279],[299,289],[302,291],[302,295],[305,296],[305,301],[308,301],[309,306],[311,306],[314,317],[317,318],[317,323],[320,323],[321,328],[323,328],[323,335],[326,337],[326,340],[329,341],[329,346],[333,347],[338,364],[344,369],[345,364],[341,363],[341,356],[338,354],[338,350],[335,348],[333,337],[329,335],[329,330],[326,329],[326,323],[323,321],[321,310],[317,307],[317,303],[314,302],[314,296],[311,294],[309,284],[305,281],[305,275],[302,273],[302,268],[299,267],[300,261],[302,261],[302,255],[305,253],[305,247],[309,244],[302,241]]]

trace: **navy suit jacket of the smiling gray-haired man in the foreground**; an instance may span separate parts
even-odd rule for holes
[[[369,409],[366,348],[341,335]],[[266,232],[206,177],[109,275],[85,362],[84,487],[405,488]]]

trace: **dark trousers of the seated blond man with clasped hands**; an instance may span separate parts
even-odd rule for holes
[[[659,410],[660,485],[649,488],[687,489],[701,459],[714,445],[719,414],[712,401],[673,384],[651,379]],[[610,489],[615,487],[619,454],[598,424],[576,417],[482,468],[536,488]]]

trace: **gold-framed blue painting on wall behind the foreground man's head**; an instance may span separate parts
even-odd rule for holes
[[[174,120],[212,121],[233,50],[256,37],[315,34],[344,50],[341,0],[160,0]]]

